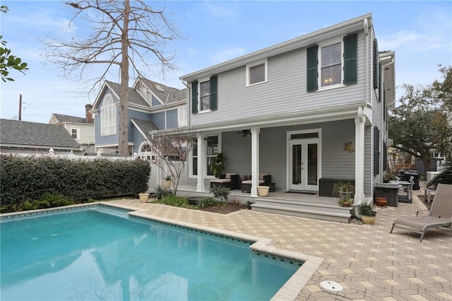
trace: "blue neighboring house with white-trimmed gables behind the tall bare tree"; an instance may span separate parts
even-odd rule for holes
[[[186,89],[138,78],[129,88],[129,153],[149,151],[146,135],[156,129],[185,126]],[[119,141],[119,84],[106,81],[93,104],[95,147],[117,153]]]

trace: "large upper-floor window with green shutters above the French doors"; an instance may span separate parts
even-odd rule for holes
[[[357,34],[307,48],[307,91],[357,83]]]

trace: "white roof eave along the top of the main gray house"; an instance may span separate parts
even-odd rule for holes
[[[328,28],[316,30],[313,33],[308,33],[307,35],[302,35],[301,37],[295,37],[295,39],[266,47],[256,52],[251,52],[250,54],[245,54],[244,56],[238,57],[237,59],[231,59],[215,66],[210,66],[206,69],[201,69],[199,71],[189,73],[187,75],[181,76],[180,79],[186,81],[187,83],[190,83],[192,81],[196,81],[198,78],[213,76],[218,73],[242,67],[246,64],[258,61],[260,59],[266,59],[268,57],[274,57],[275,55],[290,52],[295,49],[308,47],[310,45],[316,44],[317,42],[337,37],[338,35],[346,35],[347,33],[353,33],[357,30],[364,30],[366,24],[369,26],[369,28],[372,27],[371,13],[367,13],[364,16],[353,18],[351,20],[347,20],[343,23],[339,23]]]

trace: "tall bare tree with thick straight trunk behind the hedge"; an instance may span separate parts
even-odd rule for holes
[[[86,66],[105,65],[102,75],[97,78],[90,91],[105,81],[113,66],[119,67],[121,78],[118,151],[121,155],[129,155],[129,66],[136,76],[142,76],[139,70],[141,63],[150,67],[153,66],[150,61],[156,59],[165,76],[167,70],[174,69],[171,63],[174,55],[165,54],[163,47],[179,35],[165,16],[165,7],[153,9],[143,0],[134,0],[132,4],[130,0],[76,0],[65,4],[76,10],[71,23],[82,18],[91,25],[91,34],[83,41],[72,37],[44,41],[51,49],[48,57],[57,66],[61,66],[64,76],[80,71],[81,81],[84,78],[83,73],[88,73]]]

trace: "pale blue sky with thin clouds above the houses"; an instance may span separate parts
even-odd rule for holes
[[[0,81],[0,117],[48,123],[52,113],[85,117],[98,90],[90,93],[80,72],[63,76],[48,61],[49,37],[89,33],[83,20],[68,28],[74,10],[62,1],[1,0],[8,13],[0,14],[0,35],[12,54],[28,63],[25,75],[11,71],[15,81]],[[162,1],[147,1],[161,6]],[[315,30],[371,13],[379,51],[396,52],[396,85],[429,85],[441,80],[438,65],[452,65],[452,1],[166,1],[165,11],[180,38],[165,45],[177,67],[163,75],[159,66],[146,78],[182,89],[179,77],[229,59],[306,35]],[[155,65],[155,60],[149,61]],[[96,66],[97,71],[102,66]],[[83,80],[95,78],[84,73]],[[119,72],[107,80],[119,83]],[[133,80],[129,85],[133,84]],[[398,88],[396,98],[403,95]]]

